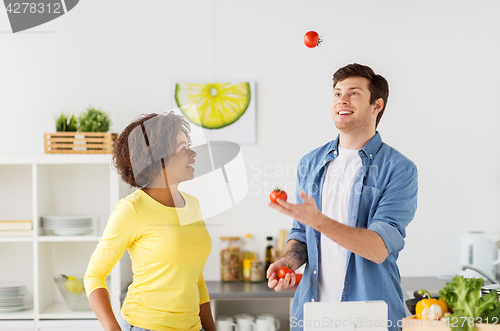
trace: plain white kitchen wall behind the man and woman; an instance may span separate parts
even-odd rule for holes
[[[367,64],[390,84],[379,131],[419,169],[401,273],[455,274],[460,234],[500,232],[499,13],[496,0],[85,0],[10,34],[0,10],[0,155],[43,153],[61,111],[102,107],[120,132],[169,109],[171,82],[255,80],[257,144],[243,146],[250,194],[210,220],[226,224],[210,227],[206,278],[218,279],[219,236],[250,232],[264,245],[291,226],[267,207],[272,183],[294,191],[294,171],[280,170],[337,135],[333,72]],[[303,45],[308,30],[321,47]],[[266,166],[272,174],[259,175]]]

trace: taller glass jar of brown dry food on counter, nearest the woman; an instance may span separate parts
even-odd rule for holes
[[[220,279],[236,282],[240,276],[240,237],[220,237]]]

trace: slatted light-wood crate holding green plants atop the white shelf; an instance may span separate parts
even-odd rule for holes
[[[109,132],[44,133],[45,153],[112,154],[118,134]]]

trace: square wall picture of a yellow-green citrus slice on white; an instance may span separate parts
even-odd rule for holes
[[[192,129],[202,128],[207,140],[255,143],[254,82],[173,85],[174,107]]]

